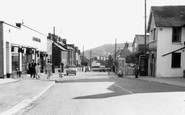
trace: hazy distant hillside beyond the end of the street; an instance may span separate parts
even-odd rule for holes
[[[122,49],[124,48],[124,43],[118,43],[117,44],[117,50],[118,49]],[[115,52],[115,44],[105,44],[91,50],[91,57],[95,57],[95,56],[105,56],[108,53],[113,54]],[[90,59],[90,50],[86,50],[84,55],[87,59]]]

